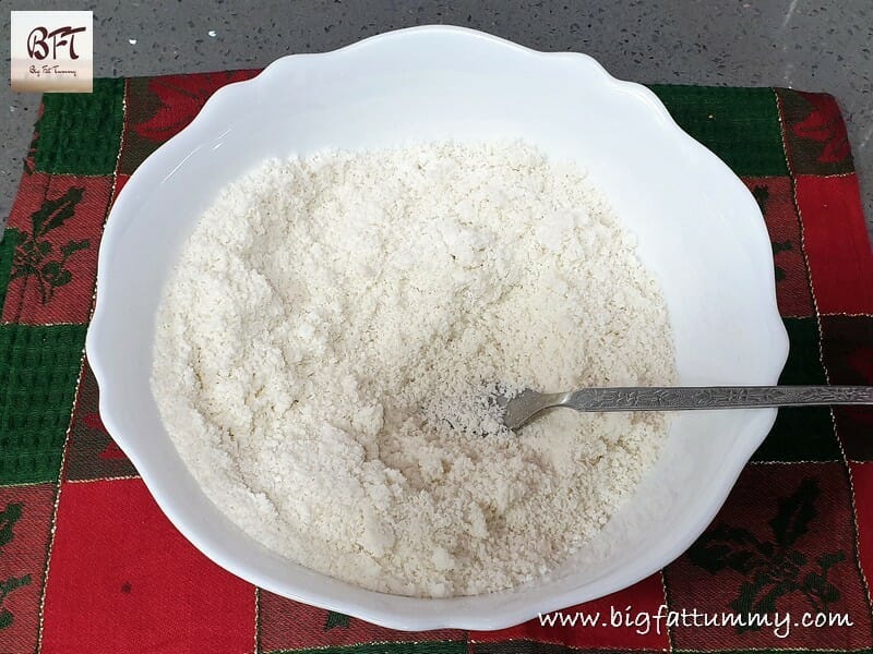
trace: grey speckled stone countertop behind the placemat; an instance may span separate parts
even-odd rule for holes
[[[482,29],[540,50],[574,50],[635,82],[791,86],[836,96],[848,121],[873,232],[873,3],[699,2],[95,2],[95,75],[264,66],[427,23]],[[65,7],[64,7],[65,8]],[[46,9],[16,1],[14,9]],[[9,35],[9,9],[0,21]],[[9,40],[2,39],[9,66]],[[7,68],[9,70],[9,68]],[[0,90],[0,221],[21,175],[38,95]]]

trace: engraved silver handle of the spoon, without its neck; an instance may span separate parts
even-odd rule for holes
[[[562,407],[577,411],[653,411],[873,404],[873,386],[679,386],[583,388]]]

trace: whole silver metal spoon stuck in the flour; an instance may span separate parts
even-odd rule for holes
[[[542,393],[529,388],[512,398],[497,398],[503,424],[523,427],[553,407],[576,411],[689,411],[815,404],[873,404],[873,386],[680,386],[582,388]]]

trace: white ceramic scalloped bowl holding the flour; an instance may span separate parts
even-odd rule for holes
[[[562,568],[505,592],[419,600],[362,590],[266,550],[222,516],[177,455],[148,385],[155,312],[182,243],[222,186],[267,157],[499,137],[579,161],[638,235],[669,305],[681,384],[777,382],[788,339],[757,205],[645,87],[583,55],[457,27],[286,57],[216,93],[128,182],[100,246],[87,335],[107,428],[167,517],[218,565],[396,629],[498,629],[633,584],[678,557],[718,511],[774,410],[677,414],[656,469]]]

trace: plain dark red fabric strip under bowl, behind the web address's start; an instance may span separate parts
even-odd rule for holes
[[[630,620],[632,625],[635,625],[636,616],[656,615],[658,607],[663,604],[663,584],[660,573],[657,573],[632,585],[630,589],[607,595],[600,600],[571,606],[562,611],[555,611],[571,620],[576,614],[596,617],[596,626],[582,627],[577,623],[575,627],[550,627],[541,625],[539,618],[535,618],[509,629],[471,631],[469,638],[470,642],[482,644],[529,640],[577,649],[667,651],[670,647],[670,640],[665,628],[658,633],[654,621],[650,622],[649,629],[646,629],[642,623],[639,627],[627,626],[627,618],[621,618],[621,616],[630,614]],[[619,619],[623,619],[624,626],[613,627],[613,615],[617,616],[617,622]],[[481,650],[481,647],[474,647],[474,651],[478,650]]]

